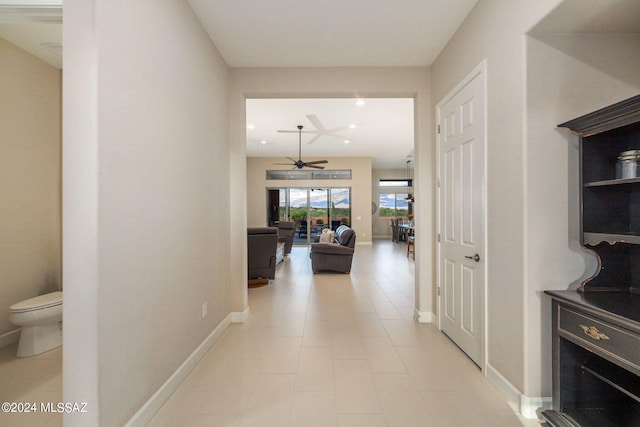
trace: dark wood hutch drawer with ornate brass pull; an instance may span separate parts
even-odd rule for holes
[[[561,306],[558,315],[562,335],[599,351],[614,363],[640,371],[640,336],[566,307]]]

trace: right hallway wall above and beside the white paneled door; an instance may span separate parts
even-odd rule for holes
[[[524,303],[525,33],[559,0],[481,0],[432,66],[435,105],[487,62],[487,364],[527,393]],[[434,119],[435,120],[435,119]],[[531,325],[536,331],[540,325]]]

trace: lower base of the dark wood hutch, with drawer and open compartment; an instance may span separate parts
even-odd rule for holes
[[[554,427],[640,425],[640,295],[548,291]]]

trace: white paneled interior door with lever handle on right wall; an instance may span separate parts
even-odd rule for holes
[[[437,107],[439,324],[478,366],[484,349],[484,90],[478,68]]]

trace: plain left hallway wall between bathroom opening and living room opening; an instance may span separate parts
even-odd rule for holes
[[[65,425],[123,425],[231,312],[228,71],[186,1],[64,13]]]

